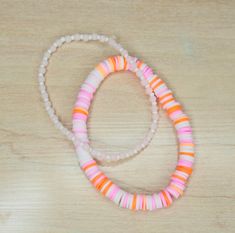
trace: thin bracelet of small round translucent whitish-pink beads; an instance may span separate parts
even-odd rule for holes
[[[137,77],[139,77],[142,86],[146,88],[146,93],[150,96],[150,101],[152,105],[152,124],[149,129],[149,132],[146,134],[146,137],[143,139],[142,143],[135,146],[134,149],[128,150],[127,152],[123,153],[111,153],[111,154],[105,154],[101,153],[93,148],[90,147],[90,145],[85,145],[88,147],[87,150],[90,151],[93,158],[96,158],[98,160],[104,160],[104,161],[115,161],[119,159],[124,159],[126,157],[131,157],[136,155],[140,149],[144,149],[151,141],[151,139],[154,136],[154,133],[157,128],[157,119],[158,119],[158,108],[156,103],[156,97],[154,93],[152,92],[152,89],[150,88],[148,82],[145,80],[145,76],[143,74],[143,71],[137,68],[136,64],[136,58],[132,58],[128,55],[128,52],[122,48],[120,44],[118,44],[113,38],[104,36],[104,35],[98,35],[98,34],[74,34],[74,35],[68,35],[63,36],[56,40],[52,46],[45,52],[40,68],[39,68],[39,74],[38,74],[38,81],[39,81],[39,88],[41,92],[41,96],[45,105],[45,109],[54,123],[55,127],[58,128],[69,140],[73,141],[75,144],[81,143],[83,144],[83,141],[78,139],[74,136],[73,132],[71,132],[69,129],[67,129],[62,122],[59,120],[58,116],[56,115],[55,109],[53,108],[52,102],[49,99],[49,94],[47,92],[47,88],[45,85],[45,74],[47,71],[47,66],[49,64],[50,57],[52,54],[61,47],[64,43],[70,43],[72,41],[100,41],[100,42],[106,42],[111,47],[115,48],[117,51],[119,51],[123,56],[126,57],[126,60],[131,67],[131,70],[136,73]],[[88,76],[88,78],[91,76]]]

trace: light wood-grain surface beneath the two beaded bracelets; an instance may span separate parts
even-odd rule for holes
[[[37,70],[48,46],[76,32],[116,35],[158,70],[192,119],[196,166],[169,209],[119,209],[91,187],[72,143],[50,122]],[[98,43],[64,46],[47,84],[62,121],[82,81],[116,52]],[[0,0],[0,232],[235,232],[235,1]],[[133,74],[108,78],[92,105],[92,145],[131,148],[150,124]],[[176,138],[161,112],[157,134],[136,157],[102,169],[129,191],[158,191],[174,170]]]

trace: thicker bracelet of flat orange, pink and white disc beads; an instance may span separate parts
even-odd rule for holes
[[[171,176],[170,182],[166,188],[160,191],[158,194],[152,195],[145,194],[131,194],[118,185],[113,183],[98,167],[96,161],[92,159],[90,152],[87,150],[87,145],[76,143],[76,153],[79,159],[81,169],[86,174],[87,178],[93,184],[93,186],[101,192],[104,196],[112,200],[114,203],[123,208],[132,210],[154,210],[156,208],[168,207],[173,202],[173,199],[177,199],[183,194],[186,186],[186,182],[192,173],[192,165],[194,161],[194,144],[192,139],[192,129],[189,124],[188,117],[183,113],[181,105],[176,102],[172,92],[167,88],[166,84],[157,75],[143,76],[142,70],[146,67],[146,64],[139,60],[133,59],[128,56],[128,59],[135,61],[137,69],[141,72],[137,72],[141,77],[144,77],[148,82],[148,85],[154,91],[156,97],[159,99],[161,107],[166,110],[167,115],[172,120],[175,127],[178,143],[179,143],[179,159],[176,166],[176,170]],[[122,62],[124,60],[124,62]],[[132,67],[128,67],[126,58],[115,57],[115,59],[108,59],[101,64],[113,63],[114,70],[132,70]],[[126,65],[127,64],[127,65]],[[102,65],[98,65],[102,67]],[[97,78],[98,81],[95,79]],[[102,75],[90,76],[88,83],[97,89]],[[78,127],[78,120],[76,117],[76,109],[81,106],[82,102],[80,97],[81,92],[78,94],[78,99],[75,104],[73,114],[73,129],[76,138],[85,137],[87,138],[86,130],[76,131]],[[86,109],[84,110],[86,116],[88,115],[88,109],[90,100],[87,101]],[[83,105],[84,106],[84,105]],[[81,113],[81,112],[80,112]],[[84,136],[85,134],[85,136]]]

